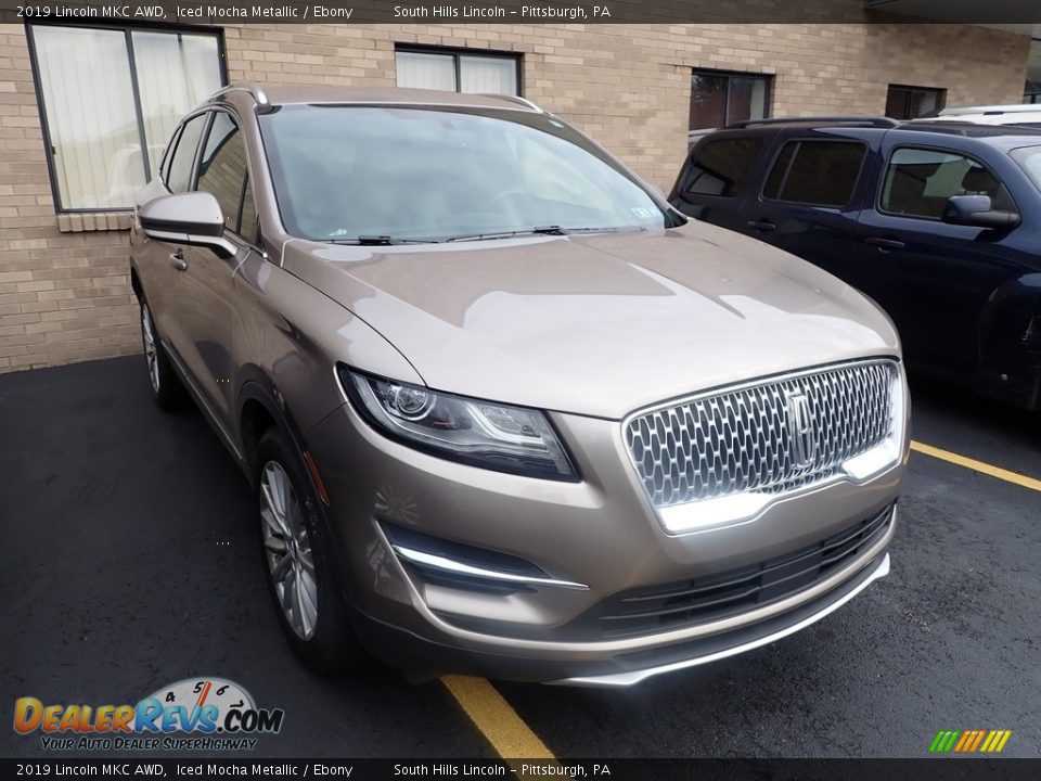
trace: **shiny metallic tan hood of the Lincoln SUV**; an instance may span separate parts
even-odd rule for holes
[[[845,283],[693,221],[422,248],[292,240],[283,266],[383,334],[434,389],[602,418],[899,350],[888,318]]]

